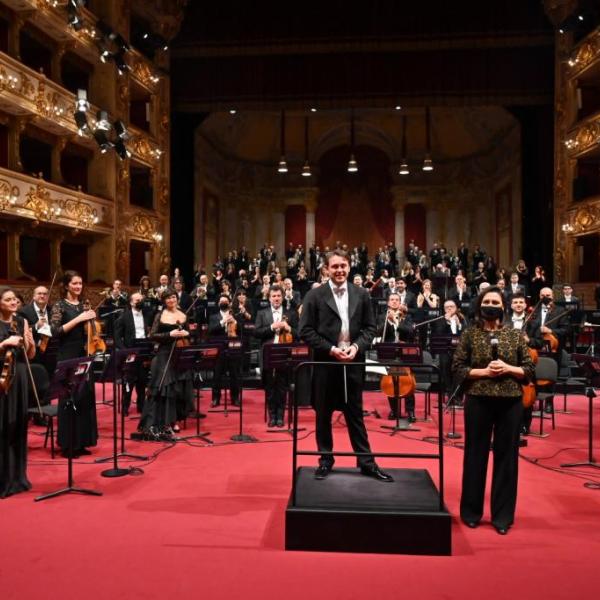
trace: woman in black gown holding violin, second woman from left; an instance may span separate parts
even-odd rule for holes
[[[86,310],[81,301],[83,280],[77,271],[65,271],[62,278],[63,298],[52,306],[50,326],[52,336],[58,338],[57,360],[80,358],[87,355],[86,322],[96,318],[93,310]],[[63,410],[67,398],[61,399],[58,408],[58,444],[62,455],[69,448],[69,419],[73,419],[73,457],[91,454],[87,450],[98,441],[96,421],[96,395],[92,374],[73,398],[76,410]]]

